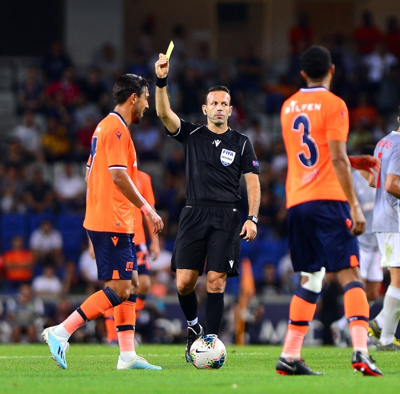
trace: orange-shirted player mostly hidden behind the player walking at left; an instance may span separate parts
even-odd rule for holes
[[[136,186],[139,193],[154,209],[155,201],[150,176],[145,172],[138,170],[138,182]],[[149,246],[150,254],[153,259],[156,259],[160,254],[160,242],[158,240],[158,234],[153,234],[149,231],[149,236],[151,240]],[[136,257],[138,260],[139,274],[139,291],[138,298],[136,300],[137,318],[139,316],[139,312],[144,308],[146,304],[146,297],[151,286],[149,250],[146,246],[146,237],[144,235],[143,214],[138,207],[135,207],[135,236],[133,238],[133,241],[136,246]],[[107,331],[107,342],[109,344],[112,344],[114,343],[114,341],[118,341],[113,310],[107,310],[104,314],[104,318]]]

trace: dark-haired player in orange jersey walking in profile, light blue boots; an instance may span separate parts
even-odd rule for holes
[[[98,124],[92,137],[84,227],[93,244],[98,278],[105,281],[106,288],[92,294],[64,322],[44,330],[50,353],[63,369],[67,368],[65,353],[71,334],[112,307],[120,346],[117,369],[161,369],[138,356],[134,346],[139,286],[134,206],[146,215],[154,234],[163,228],[160,216],[135,186],[136,152],[128,130],[130,123],[140,122],[148,108],[148,86],[140,76],[120,76],[114,84],[114,111]]]

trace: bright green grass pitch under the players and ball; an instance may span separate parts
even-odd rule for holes
[[[67,370],[60,370],[43,345],[0,345],[0,393],[399,393],[400,353],[372,352],[383,378],[364,377],[350,366],[351,350],[304,348],[303,357],[325,376],[280,376],[278,346],[228,346],[220,370],[186,364],[184,345],[141,345],[138,353],[162,371],[117,371],[118,348],[72,344]]]

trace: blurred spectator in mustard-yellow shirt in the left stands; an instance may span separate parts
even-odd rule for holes
[[[71,144],[67,135],[67,128],[58,122],[56,117],[47,121],[47,132],[43,136],[42,145],[48,162],[66,160],[70,154]]]

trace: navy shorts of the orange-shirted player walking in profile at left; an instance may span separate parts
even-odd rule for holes
[[[96,256],[98,278],[132,280],[138,270],[133,234],[88,230]]]

